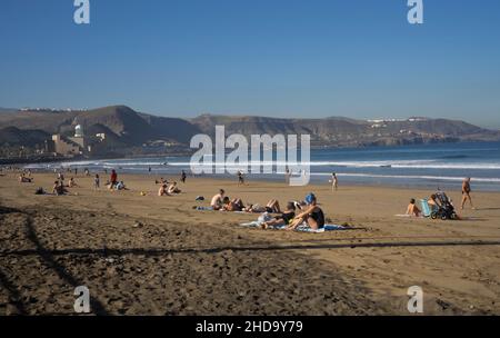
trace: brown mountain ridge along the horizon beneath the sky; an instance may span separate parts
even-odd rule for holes
[[[311,145],[319,147],[396,146],[426,142],[498,141],[500,131],[450,120],[413,118],[406,120],[357,120],[347,117],[274,118],[259,116],[201,115],[183,119],[138,112],[127,106],[108,106],[91,110],[22,110],[0,115],[0,130],[10,130],[13,139],[29,138],[27,132],[70,136],[77,125],[91,133],[106,132],[123,147],[141,147],[152,141],[189,146],[192,136],[213,136],[216,126],[231,133],[311,135]],[[16,137],[16,133],[23,132]],[[6,138],[3,138],[4,140]]]

